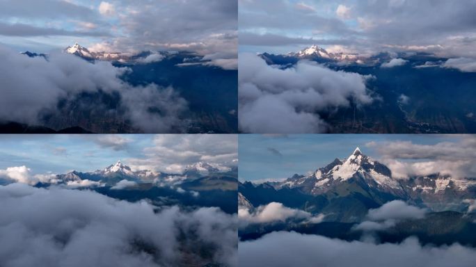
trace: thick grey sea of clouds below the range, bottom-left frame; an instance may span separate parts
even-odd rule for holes
[[[0,186],[0,202],[1,266],[178,266],[197,247],[209,254],[195,252],[194,264],[237,266],[236,216],[219,209],[155,213],[147,202],[23,184]]]

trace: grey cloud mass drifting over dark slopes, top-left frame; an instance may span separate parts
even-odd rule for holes
[[[187,102],[173,88],[123,82],[119,77],[129,71],[127,68],[107,62],[88,63],[68,54],[51,54],[47,60],[30,58],[1,46],[0,59],[0,120],[38,124],[39,114],[56,113],[61,99],[104,92],[120,95],[120,107],[115,112],[141,131],[180,131],[183,127],[180,115],[187,111]]]

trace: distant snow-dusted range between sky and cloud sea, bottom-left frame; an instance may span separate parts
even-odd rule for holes
[[[148,200],[157,207],[219,207],[226,213],[237,213],[237,173],[236,166],[218,168],[198,162],[188,165],[182,174],[177,175],[153,170],[132,170],[128,165],[117,161],[102,170],[73,170],[54,175],[49,181],[39,182],[35,186],[93,190],[129,202]]]

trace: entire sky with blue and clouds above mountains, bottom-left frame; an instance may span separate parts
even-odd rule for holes
[[[181,173],[187,165],[237,163],[234,134],[0,135],[0,170],[26,166],[33,175],[90,172],[118,160],[135,170]]]

